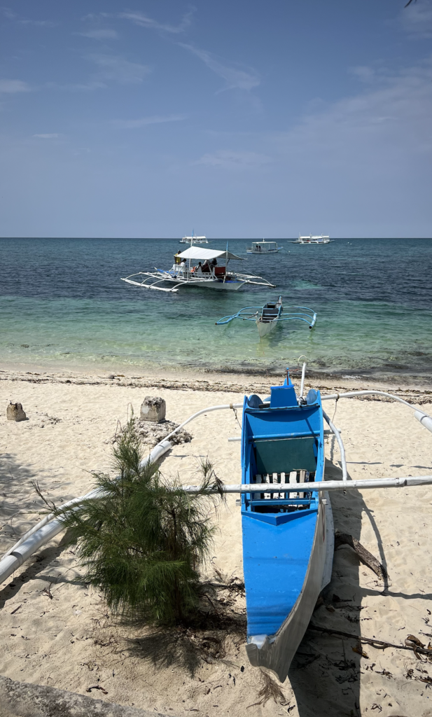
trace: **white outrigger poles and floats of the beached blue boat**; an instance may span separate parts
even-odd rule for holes
[[[303,364],[302,368],[302,386],[304,386],[304,371],[306,369],[306,364]],[[302,393],[302,391],[301,391]],[[378,396],[385,396],[391,399],[394,399],[395,401],[400,402],[401,404],[404,404],[408,408],[411,408],[411,410],[414,411],[414,416],[416,419],[421,423],[423,427],[428,429],[428,431],[432,432],[432,417],[429,416],[424,411],[421,411],[420,409],[416,409],[411,404],[409,404],[407,401],[404,401],[403,399],[399,398],[398,396],[394,396],[393,394],[388,393],[387,391],[347,391],[342,394],[330,394],[329,396],[322,396],[322,401],[330,401],[340,398],[351,398],[355,396],[368,396],[368,395],[378,395]],[[302,399],[304,400],[304,399]],[[264,401],[265,403],[265,401]],[[219,406],[209,406],[207,408],[201,409],[201,411],[197,411],[196,413],[189,416],[186,421],[183,421],[182,424],[180,424],[176,429],[174,429],[168,436],[166,436],[162,441],[158,443],[158,445],[155,445],[153,450],[150,452],[150,455],[146,457],[141,465],[143,465],[145,462],[155,462],[160,457],[164,455],[165,452],[167,452],[171,447],[172,443],[170,441],[170,438],[176,434],[178,431],[180,431],[183,427],[185,427],[188,423],[195,420],[199,416],[213,412],[213,411],[221,411],[224,409],[241,409],[243,408],[243,403],[238,404],[222,404]],[[404,478],[378,478],[378,479],[368,479],[368,480],[347,480],[347,464],[345,460],[345,449],[342,442],[342,437],[340,435],[340,430],[337,429],[333,424],[332,421],[330,421],[329,417],[325,412],[322,412],[323,416],[325,417],[325,420],[330,426],[330,430],[332,433],[335,434],[335,437],[337,439],[337,442],[340,447],[340,454],[341,454],[341,464],[342,464],[342,480],[323,480],[319,481],[317,483],[311,483],[310,487],[312,490],[365,490],[369,488],[405,488],[409,487],[411,485],[432,485],[432,475],[409,475]],[[325,432],[327,434],[327,431]],[[231,439],[232,440],[232,439]],[[236,440],[236,439],[235,439]],[[312,488],[313,486],[313,488]],[[183,487],[183,490],[186,491],[186,493],[196,493],[198,490],[200,490],[200,487],[197,485],[185,485]],[[254,490],[256,490],[256,484],[246,484],[246,483],[240,483],[240,484],[234,484],[234,485],[221,485],[221,488],[218,489],[218,492],[223,493],[251,493]],[[279,493],[281,490],[281,486],[279,483],[266,483],[265,487],[266,493]],[[298,488],[297,488],[298,490]],[[216,492],[216,489],[215,489]],[[297,492],[297,491],[296,491]],[[71,505],[79,505],[82,503],[82,500],[88,500],[89,498],[97,498],[101,494],[100,488],[95,488],[94,490],[91,490],[90,493],[87,493],[86,495],[81,496],[81,498],[74,498],[73,500],[69,500],[68,503],[65,503],[62,505],[62,508],[67,508]],[[21,566],[24,561],[29,559],[39,548],[41,548],[45,543],[48,543],[52,540],[58,533],[60,533],[62,530],[64,530],[64,525],[62,523],[61,516],[56,518],[53,514],[45,516],[42,518],[42,521],[39,521],[36,526],[31,528],[27,533],[22,536],[17,543],[15,543],[14,546],[12,546],[4,555],[4,557],[0,560],[0,583],[4,582],[16,569]]]

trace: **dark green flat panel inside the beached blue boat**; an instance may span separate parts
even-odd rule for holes
[[[256,440],[256,473],[285,473],[317,469],[315,436]]]

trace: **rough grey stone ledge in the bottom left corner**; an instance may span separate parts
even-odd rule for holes
[[[0,717],[166,717],[0,676]]]

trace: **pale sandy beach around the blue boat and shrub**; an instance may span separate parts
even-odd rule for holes
[[[131,407],[139,414],[145,396],[163,397],[167,419],[181,423],[206,406],[241,402],[244,393],[264,397],[278,382],[137,369],[121,375],[96,368],[1,369],[0,554],[44,512],[34,481],[49,500],[61,503],[92,488],[91,471],[111,470],[118,422],[125,423]],[[299,379],[294,382],[298,386]],[[309,379],[307,385],[322,394],[371,387],[363,380]],[[432,412],[428,388],[374,387],[393,389]],[[9,401],[21,402],[27,421],[6,420]],[[335,402],[327,402],[326,411],[331,418]],[[238,418],[241,422],[241,412]],[[350,479],[432,473],[432,435],[401,404],[341,399],[334,422],[342,430]],[[200,459],[208,456],[219,478],[239,483],[240,443],[228,442],[240,435],[234,412],[205,414],[188,430],[191,442],[173,446],[162,473],[196,482]],[[340,478],[332,438],[326,461],[326,478]],[[100,594],[80,581],[75,552],[62,546],[62,534],[0,586],[1,675],[174,716],[191,711],[209,717],[432,716],[432,664],[402,649],[408,635],[426,646],[432,641],[432,487],[340,491],[331,500],[335,528],[357,538],[385,566],[388,581],[360,564],[348,546],[335,551],[324,601],[280,685],[284,700],[259,704],[261,673],[249,665],[241,635],[227,631],[218,657],[206,648],[205,636],[198,644],[196,635],[162,633],[112,617]],[[208,574],[217,569],[226,579],[241,579],[241,519],[234,495],[221,508],[218,524]],[[226,609],[227,598],[221,600]],[[241,613],[244,599],[234,596],[231,607]],[[398,647],[360,645],[360,636]]]

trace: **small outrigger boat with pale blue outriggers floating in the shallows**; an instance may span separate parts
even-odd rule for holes
[[[219,319],[219,321],[216,321],[216,326],[229,323],[234,318],[241,318],[245,321],[255,321],[261,338],[276,328],[279,321],[300,320],[308,323],[309,328],[315,326],[317,314],[314,310],[307,308],[307,306],[287,306],[287,308],[291,310],[284,312],[282,296],[279,296],[277,301],[269,301],[269,303],[264,304],[264,306],[245,306],[237,313],[231,316],[224,316]],[[297,311],[294,311],[294,309],[297,309]]]

